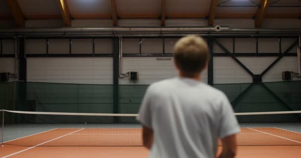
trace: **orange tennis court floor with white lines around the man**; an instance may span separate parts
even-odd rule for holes
[[[4,142],[0,158],[147,158],[141,144],[141,128],[55,128]],[[301,133],[241,128],[238,145],[237,158],[300,158]]]

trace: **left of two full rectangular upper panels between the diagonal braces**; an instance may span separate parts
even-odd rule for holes
[[[235,53],[256,53],[256,39],[235,39]]]

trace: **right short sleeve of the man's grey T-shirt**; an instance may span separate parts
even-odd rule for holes
[[[224,138],[233,134],[237,134],[240,132],[240,127],[237,122],[237,119],[234,115],[231,104],[226,97],[226,95],[222,95],[221,97],[221,118],[220,118],[220,130],[219,137]]]

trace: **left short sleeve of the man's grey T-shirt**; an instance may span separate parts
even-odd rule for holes
[[[152,92],[151,87],[146,91],[143,97],[142,104],[139,109],[139,115],[137,120],[143,125],[151,128],[151,104],[152,104]]]

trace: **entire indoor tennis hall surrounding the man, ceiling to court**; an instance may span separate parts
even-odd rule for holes
[[[0,158],[148,158],[138,112],[152,83],[180,75],[175,44],[189,35],[208,46],[201,82],[227,96],[239,122],[236,158],[299,158],[300,8],[0,0]]]

